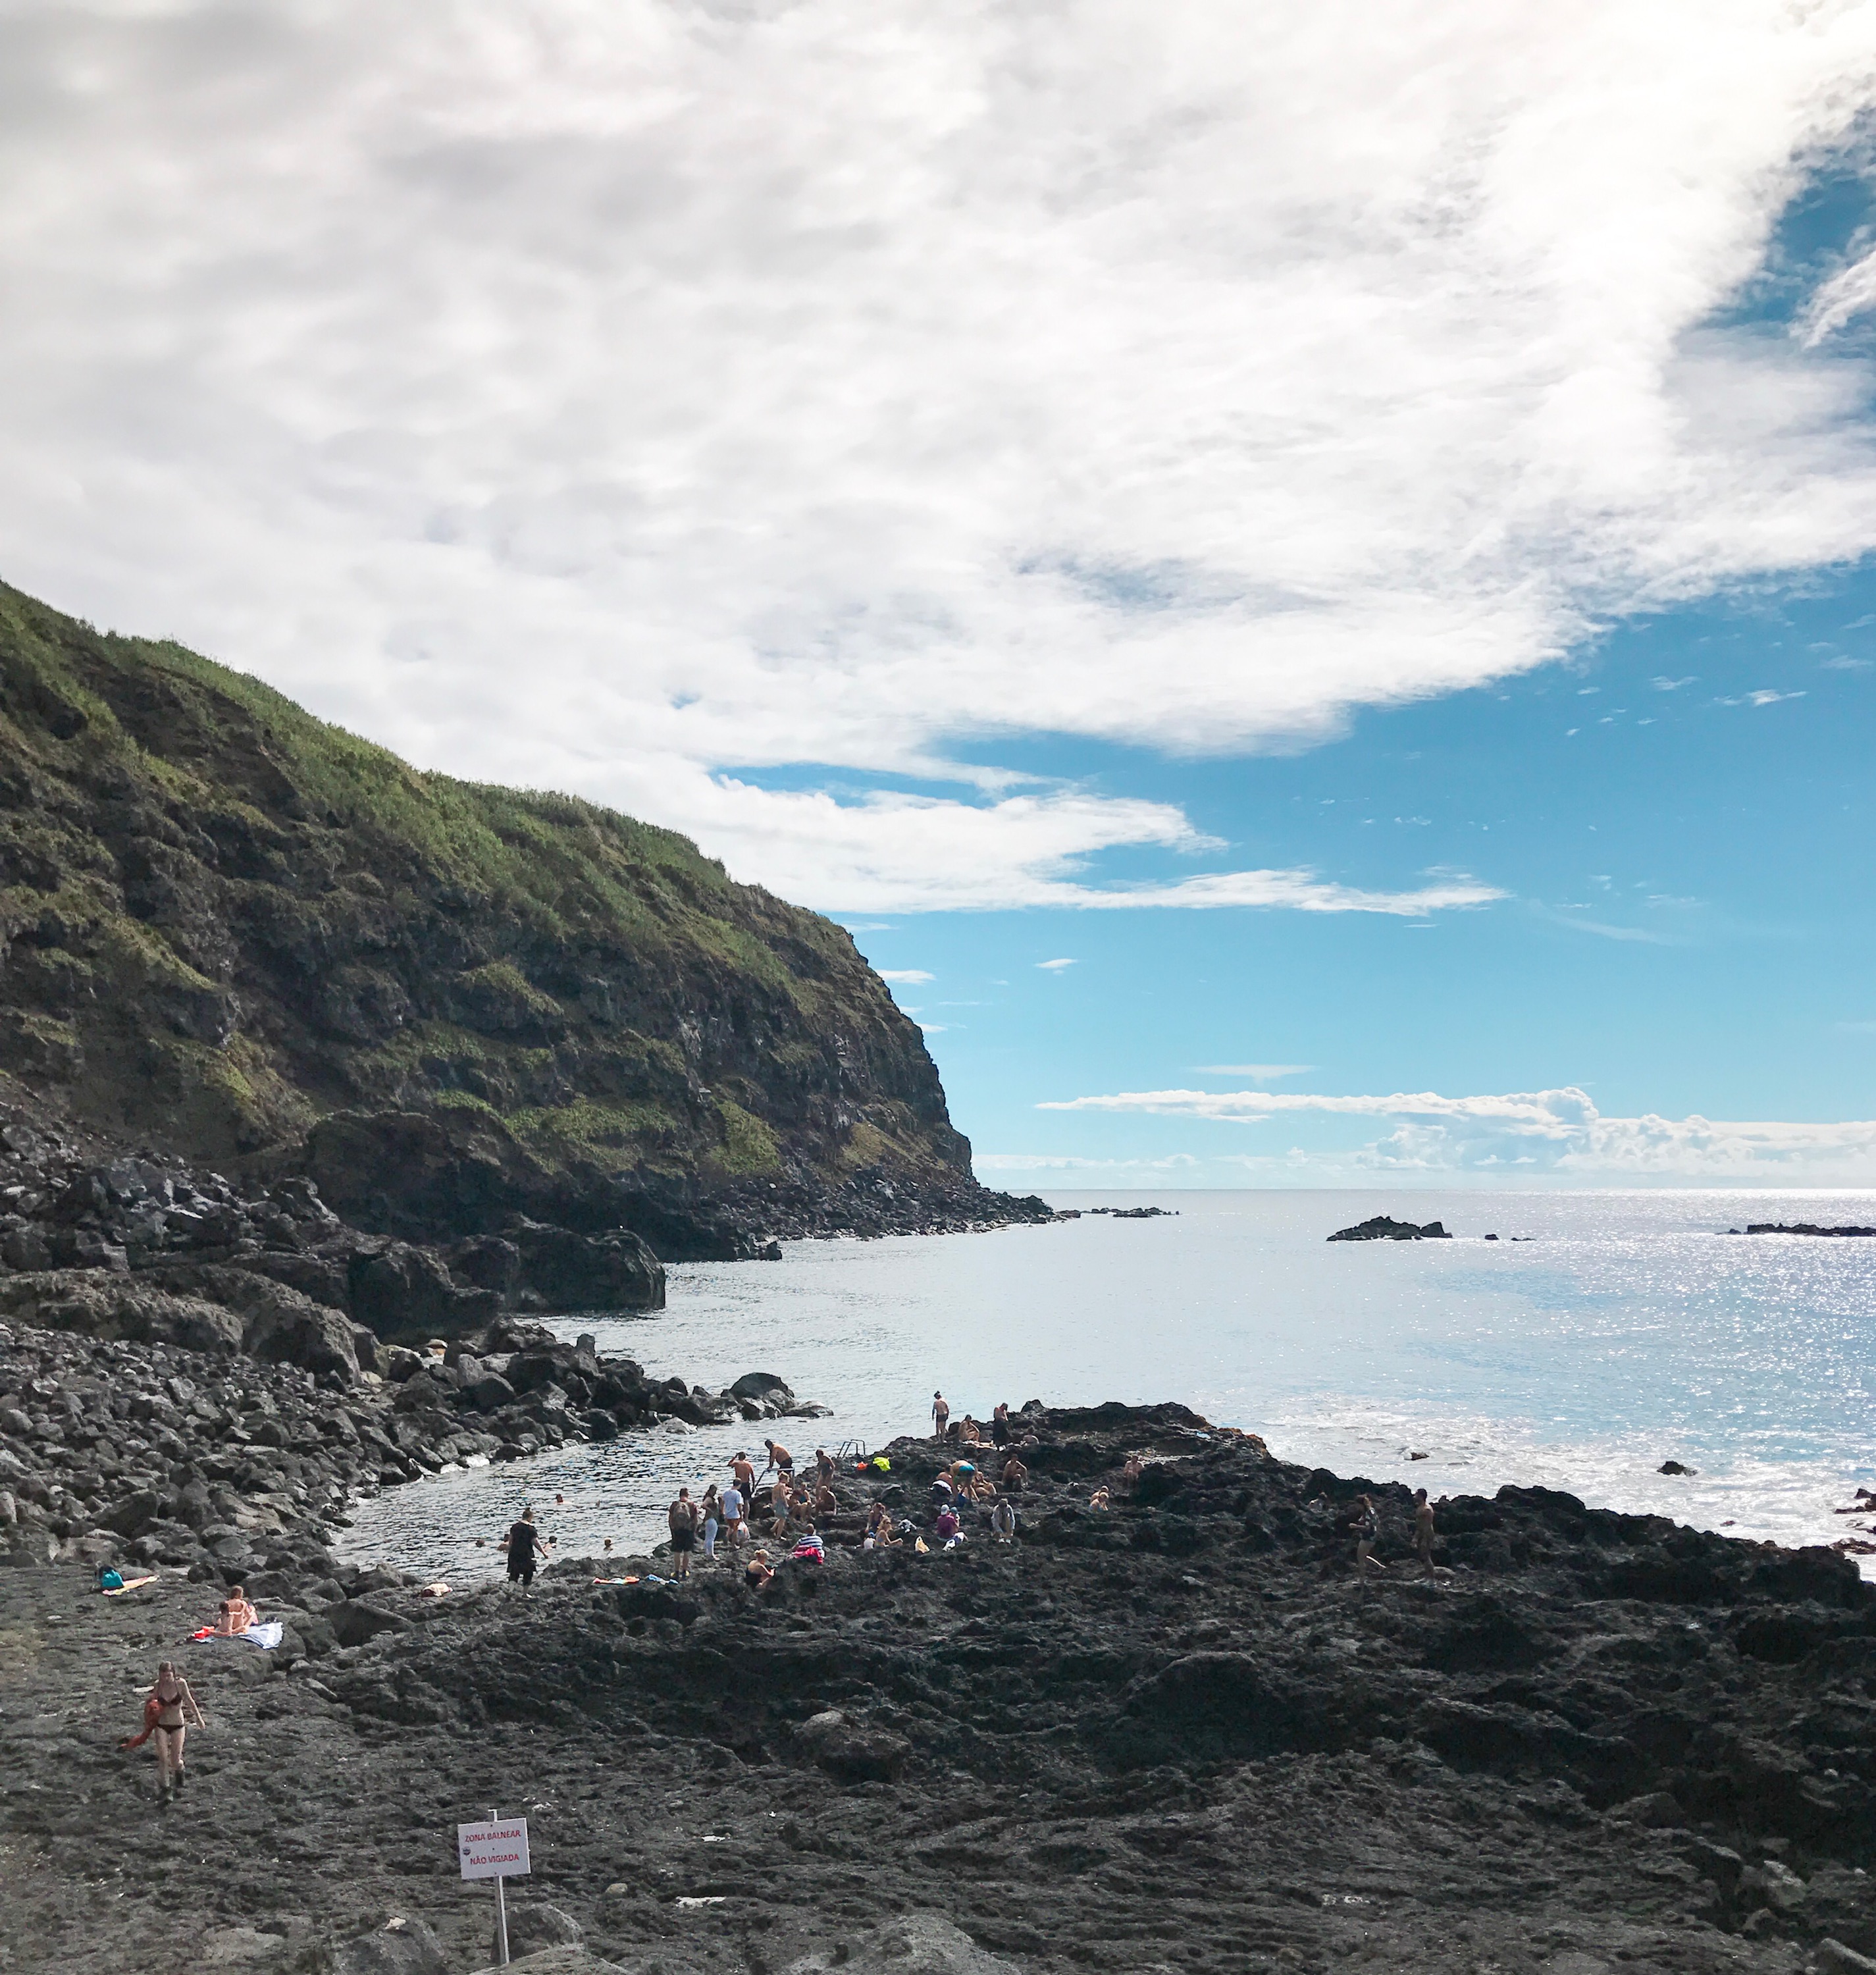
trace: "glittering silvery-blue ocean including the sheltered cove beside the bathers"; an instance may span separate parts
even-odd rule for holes
[[[1876,1521],[1835,1513],[1876,1487],[1876,1240],[1726,1232],[1876,1226],[1876,1193],[1049,1199],[1084,1219],[792,1242],[780,1262],[671,1268],[656,1315],[557,1317],[561,1335],[590,1331],[656,1377],[717,1390],[770,1371],[833,1416],[450,1471],[357,1503],[342,1554],[474,1582],[498,1572],[494,1540],[523,1503],[569,1554],[606,1537],[642,1548],[679,1483],[721,1481],[764,1432],[798,1458],[881,1446],[930,1430],[936,1388],[979,1418],[997,1400],[1177,1398],[1284,1460],[1436,1499],[1542,1483],[1787,1544]],[[1455,1238],[1327,1240],[1376,1213],[1438,1219]],[[1696,1473],[1663,1475],[1667,1460]]]

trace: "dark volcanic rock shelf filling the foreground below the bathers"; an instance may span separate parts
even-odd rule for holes
[[[215,1537],[166,1566],[174,1531],[217,1527],[184,1517],[146,1531],[156,1582],[124,1598],[83,1568],[0,1572],[0,1969],[484,1967],[490,1898],[456,1880],[452,1827],[490,1805],[531,1825],[517,1949],[559,1943],[541,1969],[569,1975],[1876,1957],[1876,1590],[1833,1550],[1507,1487],[1440,1505],[1447,1574],[1428,1578],[1400,1487],[1288,1465],[1183,1406],[1031,1408],[1015,1542],[974,1511],[956,1550],[859,1548],[875,1499],[928,1527],[948,1456],[897,1442],[889,1473],[837,1477],[825,1564],[786,1562],[764,1594],[725,1564],[660,1584],[650,1556],[565,1558],[525,1600],[423,1598],[395,1568],[332,1568],[320,1462],[344,1414],[409,1465],[393,1428],[429,1404],[176,1347],[14,1327],[0,1349],[49,1388],[28,1400],[63,1406],[67,1477],[160,1428],[209,1513],[278,1515],[278,1550],[229,1527],[286,1623],[274,1653],[180,1645],[235,1562]],[[128,1398],[118,1418],[107,1386],[109,1428],[65,1375],[79,1349],[144,1353],[99,1365]],[[195,1394],[219,1418],[178,1400],[190,1367],[229,1365]],[[138,1418],[136,1377],[174,1420]],[[39,1458],[55,1440],[22,1440],[22,1410],[0,1402],[0,1434]],[[1388,1564],[1368,1586],[1363,1493]],[[117,1740],[176,1653],[211,1726],[190,1799],[158,1815]]]

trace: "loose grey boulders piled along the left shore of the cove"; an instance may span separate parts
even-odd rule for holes
[[[0,1284],[0,1307],[18,1288]],[[361,1495],[664,1420],[821,1412],[762,1375],[721,1392],[654,1382],[513,1317],[472,1347],[379,1347],[381,1373],[314,1375],[233,1349],[215,1305],[107,1298],[83,1276],[63,1290],[39,1311],[91,1327],[99,1304],[117,1319],[140,1304],[144,1335],[0,1321],[0,1564],[168,1570],[290,1602],[310,1584],[336,1602],[357,1570],[334,1560],[332,1531]]]

